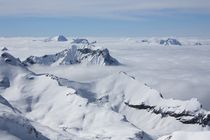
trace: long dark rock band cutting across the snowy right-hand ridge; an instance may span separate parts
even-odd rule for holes
[[[184,110],[183,112],[172,112],[170,110],[163,110],[161,108],[156,108],[155,106],[150,106],[150,105],[145,105],[144,103],[140,105],[131,105],[125,102],[125,104],[129,107],[136,108],[136,109],[143,109],[147,111],[151,111],[152,113],[155,114],[160,114],[162,117],[174,117],[180,122],[184,124],[199,124],[202,126],[210,125],[210,114],[206,113],[198,113],[196,114],[195,112],[190,112]]]

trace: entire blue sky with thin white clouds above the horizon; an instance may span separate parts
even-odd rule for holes
[[[0,0],[0,36],[210,37],[210,0]]]

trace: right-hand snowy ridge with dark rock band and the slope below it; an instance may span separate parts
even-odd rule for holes
[[[88,96],[90,102],[99,102],[125,115],[129,122],[154,137],[172,133],[175,130],[209,130],[207,123],[203,125],[199,119],[197,122],[191,122],[203,113],[201,116],[204,120],[208,118],[207,122],[209,122],[209,112],[204,111],[197,100],[164,99],[159,92],[124,72],[85,86],[75,82],[69,83],[68,80],[59,81],[61,85],[78,88],[81,91],[78,94]],[[83,91],[89,91],[89,94],[86,95]]]

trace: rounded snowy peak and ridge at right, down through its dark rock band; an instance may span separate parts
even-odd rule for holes
[[[97,92],[109,91],[112,94],[108,96],[115,96],[113,93],[118,93],[116,96],[122,94],[124,103],[129,107],[147,110],[160,114],[162,117],[174,117],[185,124],[209,125],[210,112],[202,109],[197,98],[185,101],[163,98],[160,92],[129,76],[126,72],[108,76],[99,80],[97,84],[98,86],[103,85],[102,89],[97,89]]]

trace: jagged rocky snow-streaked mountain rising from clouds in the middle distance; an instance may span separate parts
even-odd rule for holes
[[[119,62],[109,54],[108,49],[97,49],[92,45],[72,45],[71,48],[56,54],[44,55],[41,57],[30,56],[23,63],[25,65],[119,65]]]

